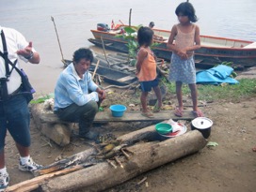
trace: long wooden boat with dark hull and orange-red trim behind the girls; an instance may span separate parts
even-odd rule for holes
[[[106,49],[128,52],[127,40],[117,37],[120,28],[124,26],[126,25],[120,25],[118,29],[106,32],[91,30],[94,39],[88,40],[97,46],[102,46],[101,37],[103,37]],[[154,53],[157,57],[169,60],[171,52],[167,49],[167,43],[170,31],[161,29],[153,29],[153,31],[156,36],[163,37],[162,40],[155,40],[159,45],[154,48]],[[212,63],[214,66],[228,61],[245,67],[256,66],[256,45],[252,41],[211,36],[200,36],[200,41],[201,48],[195,51],[195,58],[203,63]]]

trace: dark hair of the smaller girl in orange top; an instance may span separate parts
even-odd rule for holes
[[[141,26],[137,31],[137,42],[139,47],[142,45],[150,46],[152,44],[153,31],[150,27]]]

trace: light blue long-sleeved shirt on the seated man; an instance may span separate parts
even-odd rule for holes
[[[75,103],[83,106],[90,100],[99,101],[95,92],[98,85],[91,80],[91,74],[87,71],[81,79],[73,64],[67,66],[59,75],[55,88],[55,109],[66,108]],[[88,91],[91,91],[89,94]]]

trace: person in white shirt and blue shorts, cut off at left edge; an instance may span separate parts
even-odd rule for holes
[[[4,191],[9,181],[4,151],[7,131],[20,154],[19,170],[32,172],[41,168],[29,155],[30,114],[21,93],[21,75],[13,68],[19,68],[19,59],[39,64],[40,54],[15,29],[0,26],[0,33],[0,191]]]

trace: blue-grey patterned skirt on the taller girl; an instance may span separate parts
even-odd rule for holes
[[[196,66],[193,56],[187,60],[183,60],[172,52],[168,80],[182,81],[187,84],[196,83]]]

